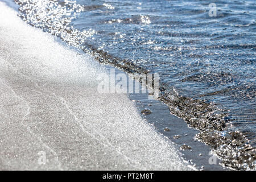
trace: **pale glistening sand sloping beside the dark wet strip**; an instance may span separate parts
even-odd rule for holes
[[[0,169],[189,169],[106,69],[0,2]],[[46,164],[38,159],[46,154]]]

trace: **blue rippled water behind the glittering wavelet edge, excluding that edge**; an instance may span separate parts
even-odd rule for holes
[[[71,26],[97,49],[160,74],[168,91],[214,102],[255,137],[255,1],[77,1]],[[246,129],[245,129],[246,126]],[[253,141],[255,144],[255,141]]]

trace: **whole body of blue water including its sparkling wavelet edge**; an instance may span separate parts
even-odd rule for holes
[[[214,1],[212,17],[208,1],[15,2],[27,23],[101,62],[159,73],[171,113],[199,129],[224,166],[254,168],[255,1]]]

